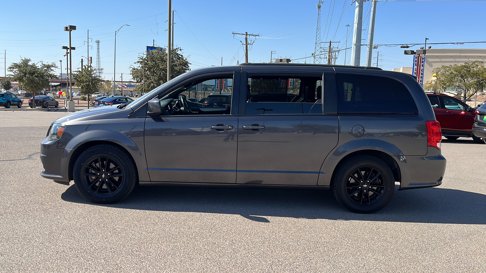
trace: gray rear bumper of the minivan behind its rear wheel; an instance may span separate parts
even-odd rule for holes
[[[446,171],[446,158],[434,147],[428,147],[427,155],[397,156],[401,171],[400,190],[430,188],[442,184]]]

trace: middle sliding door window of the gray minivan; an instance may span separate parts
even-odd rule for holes
[[[250,76],[245,114],[322,114],[322,76]]]

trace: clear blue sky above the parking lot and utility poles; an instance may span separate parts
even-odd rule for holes
[[[181,47],[191,62],[191,68],[236,65],[244,62],[240,41],[243,37],[231,34],[253,33],[255,39],[249,51],[250,62],[269,62],[273,57],[290,59],[310,56],[314,51],[317,21],[317,0],[246,0],[194,1],[173,0],[175,13],[174,43]],[[363,41],[366,44],[371,2],[364,3]],[[346,24],[351,25],[347,45],[352,42],[355,5],[351,0],[325,0],[321,8],[322,41],[339,41],[334,46],[346,47]],[[0,58],[6,50],[7,68],[10,63],[27,57],[35,62],[63,60],[62,46],[69,43],[67,25],[76,25],[72,32],[73,68],[81,66],[87,56],[87,30],[90,34],[89,55],[96,64],[96,43],[99,39],[101,66],[104,78],[113,78],[114,32],[117,34],[117,80],[130,79],[130,66],[145,46],[153,40],[157,46],[167,45],[168,2],[161,1],[3,1],[4,11],[10,11],[0,24]],[[374,44],[473,42],[485,41],[486,1],[385,1],[377,7]],[[486,43],[465,45],[432,45],[433,48],[486,48]],[[419,46],[411,48],[419,49]],[[403,55],[400,47],[381,46],[374,50],[373,63],[379,51],[379,64],[391,70],[412,65],[412,57]],[[347,64],[351,51],[347,51]],[[366,47],[362,47],[362,64]],[[3,62],[3,60],[1,60]],[[295,62],[312,63],[312,58]],[[85,60],[86,62],[86,60]],[[338,55],[337,64],[344,64],[345,52]],[[4,66],[0,66],[0,75]],[[57,69],[60,72],[60,69]],[[7,71],[8,74],[8,71]]]

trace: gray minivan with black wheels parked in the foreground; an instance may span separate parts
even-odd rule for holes
[[[223,79],[225,90],[216,86]],[[229,92],[230,105],[190,107],[182,93],[203,82]],[[41,175],[74,180],[95,203],[120,201],[138,183],[313,188],[371,213],[391,200],[395,182],[400,190],[442,183],[441,138],[408,74],[247,63],[191,70],[134,102],[55,120]],[[188,144],[208,152],[193,156]]]

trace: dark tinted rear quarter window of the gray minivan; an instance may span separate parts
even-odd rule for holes
[[[417,113],[408,88],[397,80],[374,75],[336,74],[338,113]]]

